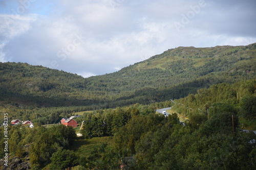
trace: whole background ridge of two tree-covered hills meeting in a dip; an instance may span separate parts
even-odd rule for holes
[[[177,99],[212,84],[255,78],[256,43],[177,47],[112,74],[82,78],[27,63],[0,63],[1,101],[101,106]]]

